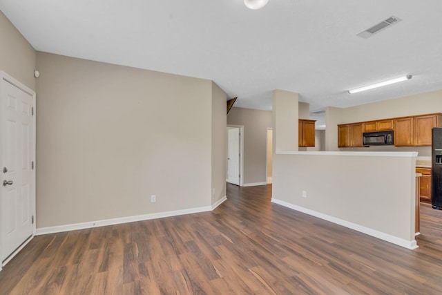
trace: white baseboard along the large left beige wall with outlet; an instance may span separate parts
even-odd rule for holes
[[[220,201],[224,202],[224,200],[223,200],[224,198],[222,198],[218,202],[220,202]],[[218,202],[215,203],[215,204],[217,204],[217,206],[219,205]],[[220,202],[220,204],[222,202]],[[177,210],[177,211],[150,213],[150,214],[144,214],[144,215],[138,215],[138,216],[128,216],[128,217],[120,217],[120,218],[113,218],[113,219],[106,219],[106,220],[81,222],[81,223],[75,223],[75,224],[71,224],[71,225],[60,225],[57,227],[42,227],[41,229],[37,229],[36,234],[37,234],[37,236],[44,235],[44,234],[55,234],[55,233],[60,233],[63,231],[75,231],[77,229],[90,229],[93,227],[104,227],[106,225],[118,225],[120,223],[150,220],[150,219],[157,219],[157,218],[164,218],[164,217],[171,217],[171,216],[179,216],[179,215],[191,214],[191,213],[200,213],[200,212],[212,211],[212,207],[213,206],[207,206],[207,207],[198,207],[198,208],[184,209],[184,210]]]

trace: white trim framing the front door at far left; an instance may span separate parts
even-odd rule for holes
[[[25,86],[24,84],[22,84],[21,82],[19,82],[17,79],[14,79],[13,77],[11,77],[10,75],[6,74],[5,72],[0,70],[0,82],[6,81],[14,86],[16,86],[17,88],[19,88],[21,91],[24,91],[26,93],[28,93],[29,95],[32,96],[32,106],[33,106],[33,116],[32,116],[32,143],[30,146],[30,158],[31,160],[34,162],[34,169],[32,169],[32,175],[31,175],[31,188],[30,188],[30,196],[31,196],[31,208],[30,211],[32,212],[32,215],[34,216],[34,223],[32,225],[32,236],[31,238],[28,238],[25,242],[23,242],[23,244],[14,251],[14,253],[12,253],[7,260],[4,261],[4,263],[0,262],[0,271],[3,267],[3,265],[6,265],[6,263],[8,263],[18,252],[19,250],[21,250],[28,242],[30,242],[30,240],[32,240],[32,238],[35,236],[36,233],[36,225],[37,225],[37,215],[36,215],[36,211],[35,211],[35,171],[36,171],[36,162],[35,162],[35,145],[36,145],[36,95],[35,95],[35,91],[32,91],[32,89],[28,88],[27,86]],[[0,83],[0,95],[3,92],[3,83]],[[1,108],[3,106],[0,104],[0,113],[1,113]],[[1,120],[0,120],[0,130],[1,130]],[[0,146],[3,146],[3,142],[1,142],[1,137],[0,137]],[[3,159],[0,157],[0,167],[1,169],[3,169]],[[3,173],[2,171],[0,171],[0,173]],[[2,178],[3,179],[3,178]],[[0,200],[2,200],[2,190],[0,190]],[[2,202],[0,201],[0,211],[1,211],[1,206],[2,206]],[[2,229],[0,228],[0,231]],[[1,233],[0,233],[0,239],[1,239]],[[2,253],[2,249],[1,249],[1,241],[0,241],[0,253]]]

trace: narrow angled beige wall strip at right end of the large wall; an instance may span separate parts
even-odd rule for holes
[[[227,95],[212,82],[212,204],[226,196]]]

